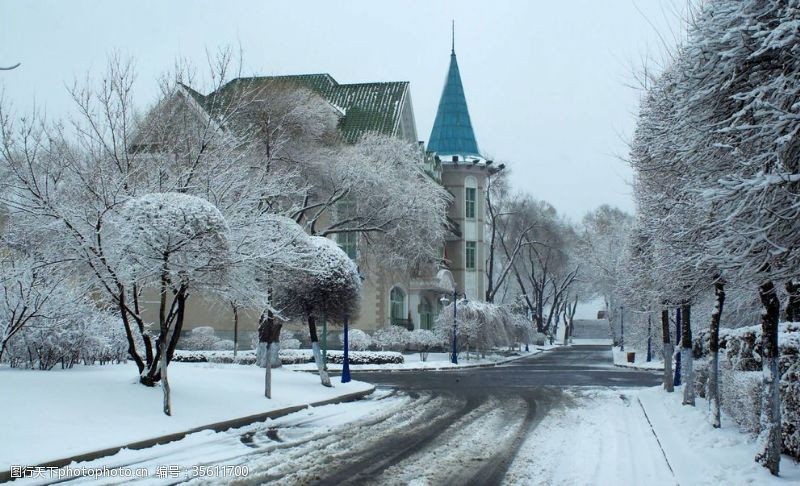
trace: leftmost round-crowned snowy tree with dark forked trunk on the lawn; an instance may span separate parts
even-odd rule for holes
[[[210,202],[181,193],[129,199],[111,216],[104,238],[109,255],[122,262],[118,278],[158,292],[159,335],[143,378],[164,390],[164,413],[172,415],[167,365],[183,328],[193,291],[224,288],[230,261],[228,225]]]

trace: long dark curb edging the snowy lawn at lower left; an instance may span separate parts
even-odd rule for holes
[[[304,410],[310,407],[321,407],[324,405],[332,405],[335,403],[345,403],[345,402],[352,402],[358,400],[360,398],[364,398],[367,395],[372,394],[375,391],[375,386],[371,386],[370,388],[358,392],[347,393],[345,395],[340,395],[338,397],[328,398],[326,400],[320,400],[317,402],[305,403],[302,405],[294,405],[291,407],[279,408],[277,410],[270,410],[269,412],[262,412],[253,415],[247,415],[245,417],[239,417],[230,420],[223,420],[221,422],[214,422],[206,425],[201,425],[198,427],[193,427],[191,429],[185,430],[183,432],[175,432],[172,434],[162,435],[159,437],[154,437],[151,439],[140,440],[136,442],[131,442],[129,444],[115,446],[115,447],[108,447],[106,449],[100,449],[97,451],[87,452],[84,454],[78,454],[71,457],[65,457],[62,459],[57,459],[54,461],[48,461],[42,464],[36,465],[25,465],[26,467],[33,467],[33,468],[59,468],[68,466],[73,462],[86,462],[92,461],[95,459],[99,459],[101,457],[110,456],[116,454],[117,452],[121,451],[122,449],[131,449],[131,450],[138,450],[138,449],[146,449],[148,447],[152,447],[154,445],[159,444],[166,444],[168,442],[174,442],[176,440],[183,439],[189,434],[194,434],[196,432],[202,432],[204,430],[213,430],[214,432],[223,432],[225,430],[235,429],[238,427],[244,427],[246,425],[254,424],[256,422],[263,422],[267,419],[276,419],[279,417],[283,417],[285,415],[289,415],[294,412],[298,412],[300,410]],[[11,471],[10,470],[0,470],[0,483],[4,483],[7,481],[11,481]]]

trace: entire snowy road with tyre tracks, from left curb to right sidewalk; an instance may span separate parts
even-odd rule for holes
[[[620,370],[601,373],[590,350],[561,353],[503,373],[392,374],[387,380],[405,384],[358,402],[81,466],[144,468],[147,479],[137,482],[145,484],[675,484],[629,389],[562,383],[572,374],[577,383],[589,376],[617,384]],[[558,383],[525,382],[548,377]]]

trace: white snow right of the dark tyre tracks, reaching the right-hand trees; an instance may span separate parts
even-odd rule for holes
[[[783,457],[781,477],[771,476],[753,461],[751,438],[730,421],[712,428],[705,400],[694,409],[682,406],[678,390],[572,389],[576,406],[542,420],[520,448],[505,483],[800,484],[800,466],[791,458]]]

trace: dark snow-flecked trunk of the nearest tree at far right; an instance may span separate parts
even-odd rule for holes
[[[778,475],[781,461],[781,403],[780,376],[778,375],[778,320],[780,301],[771,280],[759,286],[759,297],[764,310],[761,314],[761,357],[764,389],[761,401],[761,433],[758,442],[761,451],[756,461]]]

